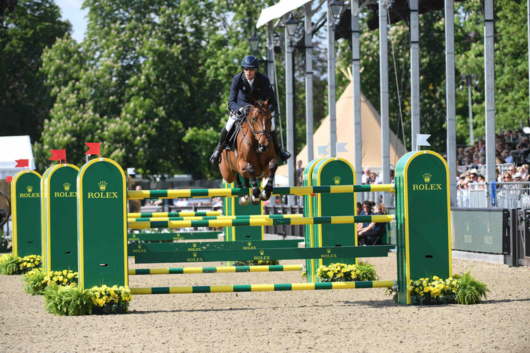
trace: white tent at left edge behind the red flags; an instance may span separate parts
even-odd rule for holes
[[[15,160],[30,160],[30,170],[35,169],[30,136],[0,136],[0,180],[23,170],[14,167]]]

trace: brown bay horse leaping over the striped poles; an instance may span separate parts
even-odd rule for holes
[[[248,180],[252,182],[252,195],[240,196],[240,205],[248,204],[249,198],[252,204],[271,198],[273,192],[273,180],[278,168],[276,152],[272,140],[273,115],[268,109],[268,100],[252,100],[252,105],[241,121],[240,127],[236,127],[233,150],[224,149],[221,155],[219,169],[223,179],[234,182],[237,188],[242,188],[240,175],[244,178],[245,187],[250,187]],[[259,191],[257,179],[267,177],[267,184],[263,191]]]

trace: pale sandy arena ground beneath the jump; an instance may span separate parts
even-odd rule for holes
[[[381,279],[396,277],[394,253],[368,261]],[[178,264],[131,263],[148,267]],[[469,269],[491,290],[475,306],[397,305],[372,288],[136,295],[129,314],[89,317],[47,314],[20,276],[0,275],[0,352],[530,352],[530,270],[453,261],[454,272]],[[303,281],[300,272],[129,277],[131,287]]]

